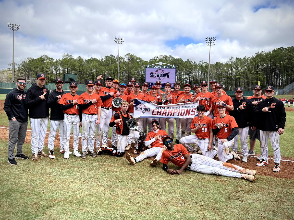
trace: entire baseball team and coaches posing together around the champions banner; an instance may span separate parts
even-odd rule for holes
[[[70,82],[69,93],[64,92],[64,82],[61,78],[55,80],[56,89],[49,92],[45,86],[46,79],[44,74],[38,74],[36,83],[26,92],[26,79],[19,77],[16,81],[17,87],[6,96],[4,110],[9,119],[7,162],[11,165],[17,164],[15,159],[29,159],[22,152],[29,116],[33,161],[39,160],[39,157],[55,158],[54,140],[59,129],[59,152],[64,154],[65,159],[69,159],[72,153],[69,150],[72,133],[73,155],[83,159],[87,155],[125,155],[126,160],[135,165],[145,158],[155,156],[150,165],[156,166],[160,161],[163,163],[163,170],[170,174],[181,174],[183,170],[188,169],[204,174],[243,178],[251,182],[255,180],[255,170],[244,169],[227,161],[241,160],[236,154],[240,137],[242,161],[246,163],[248,155],[255,155],[254,146],[258,139],[261,155],[256,165],[268,166],[270,138],[274,153],[273,171],[280,171],[279,137],[284,133],[286,113],[283,102],[273,97],[273,86],[267,86],[264,90],[265,95],[262,95],[262,88],[256,85],[253,96],[247,98],[243,97],[243,89],[237,87],[232,100],[223,90],[222,84],[215,79],[209,83],[202,81],[200,85],[184,84],[183,91],[180,90],[180,82],[173,83],[173,89],[172,84],[167,82],[164,85],[164,92],[161,91],[161,82],[157,81],[147,92],[149,84],[145,82],[140,85],[135,78],[131,78],[128,83],[119,84],[117,79],[109,76],[106,77],[103,86],[102,76],[98,76],[96,81],[87,80],[87,91],[81,95],[77,94],[76,82]],[[209,84],[212,92],[208,91]],[[120,107],[113,105],[115,98],[121,99]],[[157,105],[196,102],[198,115],[191,119],[137,118],[138,129],[133,130],[129,128],[128,121],[133,117],[136,99]],[[50,133],[47,155],[43,150],[49,109]],[[80,127],[81,153],[78,151]],[[111,147],[108,146],[109,128],[112,128]],[[136,158],[125,153],[131,150],[132,143],[133,153],[138,154]],[[195,145],[195,148],[191,145]],[[169,161],[180,168],[169,169]]]

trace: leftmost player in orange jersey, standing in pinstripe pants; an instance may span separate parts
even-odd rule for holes
[[[74,155],[76,157],[81,157],[80,152],[78,152],[78,133],[82,126],[78,109],[79,96],[76,94],[78,84],[76,82],[71,82],[69,84],[69,90],[70,92],[64,94],[59,101],[59,105],[64,113],[64,159],[69,159],[69,138],[71,136],[71,128],[73,129],[74,135]]]

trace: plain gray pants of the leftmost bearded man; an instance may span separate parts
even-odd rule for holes
[[[9,120],[9,141],[8,141],[8,159],[14,158],[14,149],[16,145],[16,154],[22,154],[22,145],[26,138],[26,129],[28,122],[12,121]]]

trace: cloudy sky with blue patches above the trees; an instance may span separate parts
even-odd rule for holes
[[[144,60],[172,55],[208,62],[205,37],[216,37],[211,63],[229,57],[293,46],[294,1],[196,0],[0,0],[0,69],[14,60],[48,55],[61,58],[117,56],[115,37],[124,38],[120,55]]]

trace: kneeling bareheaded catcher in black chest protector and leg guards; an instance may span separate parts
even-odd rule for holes
[[[101,147],[98,150],[98,155],[102,153],[107,153],[109,155],[113,155],[116,157],[122,157],[125,154],[125,147],[128,143],[129,139],[139,139],[139,145],[144,141],[144,137],[146,137],[146,133],[144,135],[143,132],[139,131],[130,131],[127,126],[128,120],[132,118],[132,116],[127,112],[128,110],[128,102],[121,102],[121,111],[117,111],[110,120],[109,126],[116,126],[116,141],[117,141],[117,150],[109,147]],[[138,125],[140,123],[138,122]]]

